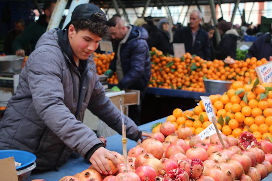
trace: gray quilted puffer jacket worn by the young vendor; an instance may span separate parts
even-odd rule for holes
[[[87,61],[81,78],[78,69],[63,54],[57,30],[43,34],[28,57],[17,91],[0,121],[0,150],[34,153],[37,169],[60,167],[72,150],[85,157],[94,145],[101,143],[82,123],[86,109],[121,134],[121,113],[105,97],[92,57]],[[137,138],[140,130],[131,119],[124,118],[128,138]]]

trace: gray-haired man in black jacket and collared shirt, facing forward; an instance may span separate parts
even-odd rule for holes
[[[182,28],[174,35],[173,43],[184,43],[185,51],[196,54],[202,59],[210,60],[209,36],[202,29],[200,22],[202,14],[200,11],[193,11],[190,14],[189,26]]]

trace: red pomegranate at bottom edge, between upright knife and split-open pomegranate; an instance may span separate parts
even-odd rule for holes
[[[157,176],[157,172],[150,166],[138,167],[135,173],[140,177],[141,181],[154,181]]]

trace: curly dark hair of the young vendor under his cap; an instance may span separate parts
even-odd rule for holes
[[[94,13],[91,17],[96,17],[101,20],[107,21],[107,18],[105,14],[102,13]],[[76,32],[79,30],[89,30],[90,32],[98,35],[99,37],[104,37],[105,34],[108,33],[108,26],[105,24],[105,22],[93,22],[91,20],[73,20],[71,24],[74,25]]]

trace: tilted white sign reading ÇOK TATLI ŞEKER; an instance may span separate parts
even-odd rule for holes
[[[257,75],[261,83],[271,83],[272,82],[272,62],[268,62],[264,65],[260,65],[255,68]]]

